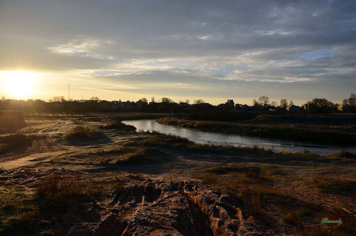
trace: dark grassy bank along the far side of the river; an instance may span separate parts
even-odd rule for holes
[[[160,118],[158,123],[178,125],[210,132],[224,132],[232,134],[251,135],[266,138],[297,140],[303,142],[328,143],[339,145],[356,144],[355,133],[344,133],[335,130],[308,129],[292,126],[252,125],[230,122],[191,121],[177,118]],[[351,130],[353,131],[353,130]]]

